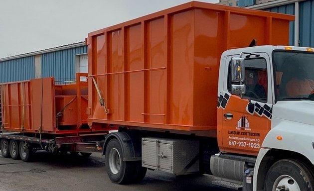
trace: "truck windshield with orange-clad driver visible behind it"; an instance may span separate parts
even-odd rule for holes
[[[276,100],[314,100],[314,53],[274,51]]]

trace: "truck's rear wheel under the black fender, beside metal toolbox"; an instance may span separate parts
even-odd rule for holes
[[[106,148],[105,164],[110,180],[117,184],[133,183],[136,165],[123,161],[122,147],[117,139],[111,139]]]

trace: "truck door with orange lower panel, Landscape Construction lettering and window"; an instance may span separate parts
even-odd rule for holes
[[[273,78],[270,58],[266,53],[258,54],[258,57],[252,55],[244,60],[246,92],[242,96],[231,95],[230,61],[234,56],[226,59],[223,85],[219,86],[223,90],[218,91],[221,151],[257,155],[271,128]]]

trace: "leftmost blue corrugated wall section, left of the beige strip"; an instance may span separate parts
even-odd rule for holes
[[[0,62],[0,83],[35,78],[34,63],[34,56]]]

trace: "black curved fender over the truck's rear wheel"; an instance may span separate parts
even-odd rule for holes
[[[102,154],[105,155],[106,148],[111,139],[117,139],[122,147],[123,153],[123,161],[140,161],[141,158],[141,149],[139,149],[138,140],[134,139],[134,137],[127,132],[113,132],[110,133],[104,142],[103,152]]]

